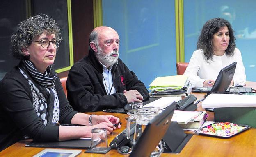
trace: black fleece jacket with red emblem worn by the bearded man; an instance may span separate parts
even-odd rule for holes
[[[107,108],[123,107],[127,104],[123,90],[137,89],[144,100],[149,98],[149,91],[145,85],[121,59],[118,59],[111,69],[113,87],[117,93],[107,95],[102,73],[103,66],[93,51],[71,67],[66,82],[67,97],[76,111],[101,111]]]

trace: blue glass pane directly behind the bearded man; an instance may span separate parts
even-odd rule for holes
[[[174,0],[103,0],[103,25],[120,38],[120,58],[146,88],[176,75]]]

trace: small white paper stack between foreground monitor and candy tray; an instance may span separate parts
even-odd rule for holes
[[[197,116],[201,114],[200,111],[181,111],[174,110],[174,115],[171,118],[171,121],[178,122],[178,124],[187,124],[191,120],[194,121]]]

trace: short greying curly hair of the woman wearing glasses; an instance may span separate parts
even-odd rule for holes
[[[59,25],[48,15],[36,15],[21,22],[11,36],[11,51],[14,58],[28,59],[22,48],[29,46],[35,36],[44,32],[55,34],[57,41],[61,41]]]

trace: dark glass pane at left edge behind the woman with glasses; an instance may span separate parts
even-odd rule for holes
[[[25,0],[1,0],[0,5],[0,80],[18,65],[11,55],[11,35],[17,24],[26,19]]]

